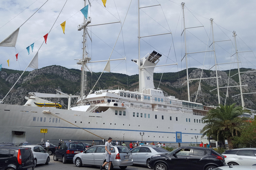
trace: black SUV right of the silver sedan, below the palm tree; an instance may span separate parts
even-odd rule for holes
[[[225,166],[226,163],[224,156],[212,148],[183,146],[167,154],[152,156],[149,165],[154,170],[211,170],[219,166]]]

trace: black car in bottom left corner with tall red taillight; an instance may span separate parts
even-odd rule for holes
[[[31,149],[20,146],[0,147],[0,169],[34,170],[34,156]]]

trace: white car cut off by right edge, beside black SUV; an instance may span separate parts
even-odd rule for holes
[[[253,165],[256,163],[256,148],[237,148],[222,153],[228,165]]]

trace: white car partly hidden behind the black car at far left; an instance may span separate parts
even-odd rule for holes
[[[48,165],[50,162],[50,156],[47,151],[40,145],[26,145],[24,147],[30,147],[33,155],[34,155],[34,162],[36,164],[44,164]]]

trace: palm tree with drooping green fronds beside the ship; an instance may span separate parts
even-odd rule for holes
[[[203,133],[202,137],[217,136],[217,141],[220,136],[224,137],[228,141],[229,149],[233,149],[232,139],[234,134],[237,135],[238,131],[241,131],[245,127],[244,121],[241,117],[243,113],[250,113],[248,110],[243,110],[242,106],[235,107],[235,103],[232,105],[221,105],[216,109],[212,109],[208,112],[202,120],[207,123],[200,131]]]

